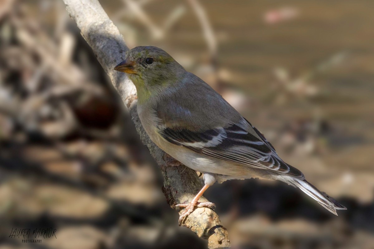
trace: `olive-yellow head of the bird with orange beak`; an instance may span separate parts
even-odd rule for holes
[[[125,72],[137,87],[138,97],[156,93],[186,72],[184,68],[164,50],[153,46],[139,46],[129,50],[126,59],[115,68]],[[149,97],[149,96],[148,96]]]

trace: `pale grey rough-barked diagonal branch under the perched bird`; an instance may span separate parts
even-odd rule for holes
[[[129,49],[117,27],[108,18],[98,0],[64,0],[67,11],[77,23],[83,38],[91,46],[102,68],[127,106],[142,143],[150,150],[162,170],[163,192],[170,206],[185,203],[199,192],[201,183],[196,172],[186,166],[171,166],[164,160],[165,152],[159,149],[145,133],[137,113],[137,93],[129,78],[113,68],[125,59]],[[201,201],[208,201],[204,197]],[[177,221],[176,221],[177,222]],[[199,237],[208,239],[209,248],[229,247],[226,228],[218,215],[208,208],[196,208],[184,222]]]

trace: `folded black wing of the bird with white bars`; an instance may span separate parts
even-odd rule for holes
[[[163,127],[160,134],[173,144],[187,147],[206,156],[304,179],[301,171],[279,158],[272,144],[260,131],[249,122],[248,125],[258,136],[237,124],[205,131]]]

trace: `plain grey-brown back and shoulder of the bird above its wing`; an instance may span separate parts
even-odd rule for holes
[[[154,109],[162,125],[191,131],[227,127],[242,118],[220,94],[191,73],[167,89]]]

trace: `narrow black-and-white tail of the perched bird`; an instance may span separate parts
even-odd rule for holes
[[[292,180],[289,179],[288,183],[301,189],[304,193],[315,199],[319,204],[335,215],[338,215],[336,212],[337,210],[347,209],[345,206],[338,203],[334,198],[328,196],[325,192],[319,191],[315,186],[308,183],[306,180],[292,178]]]

